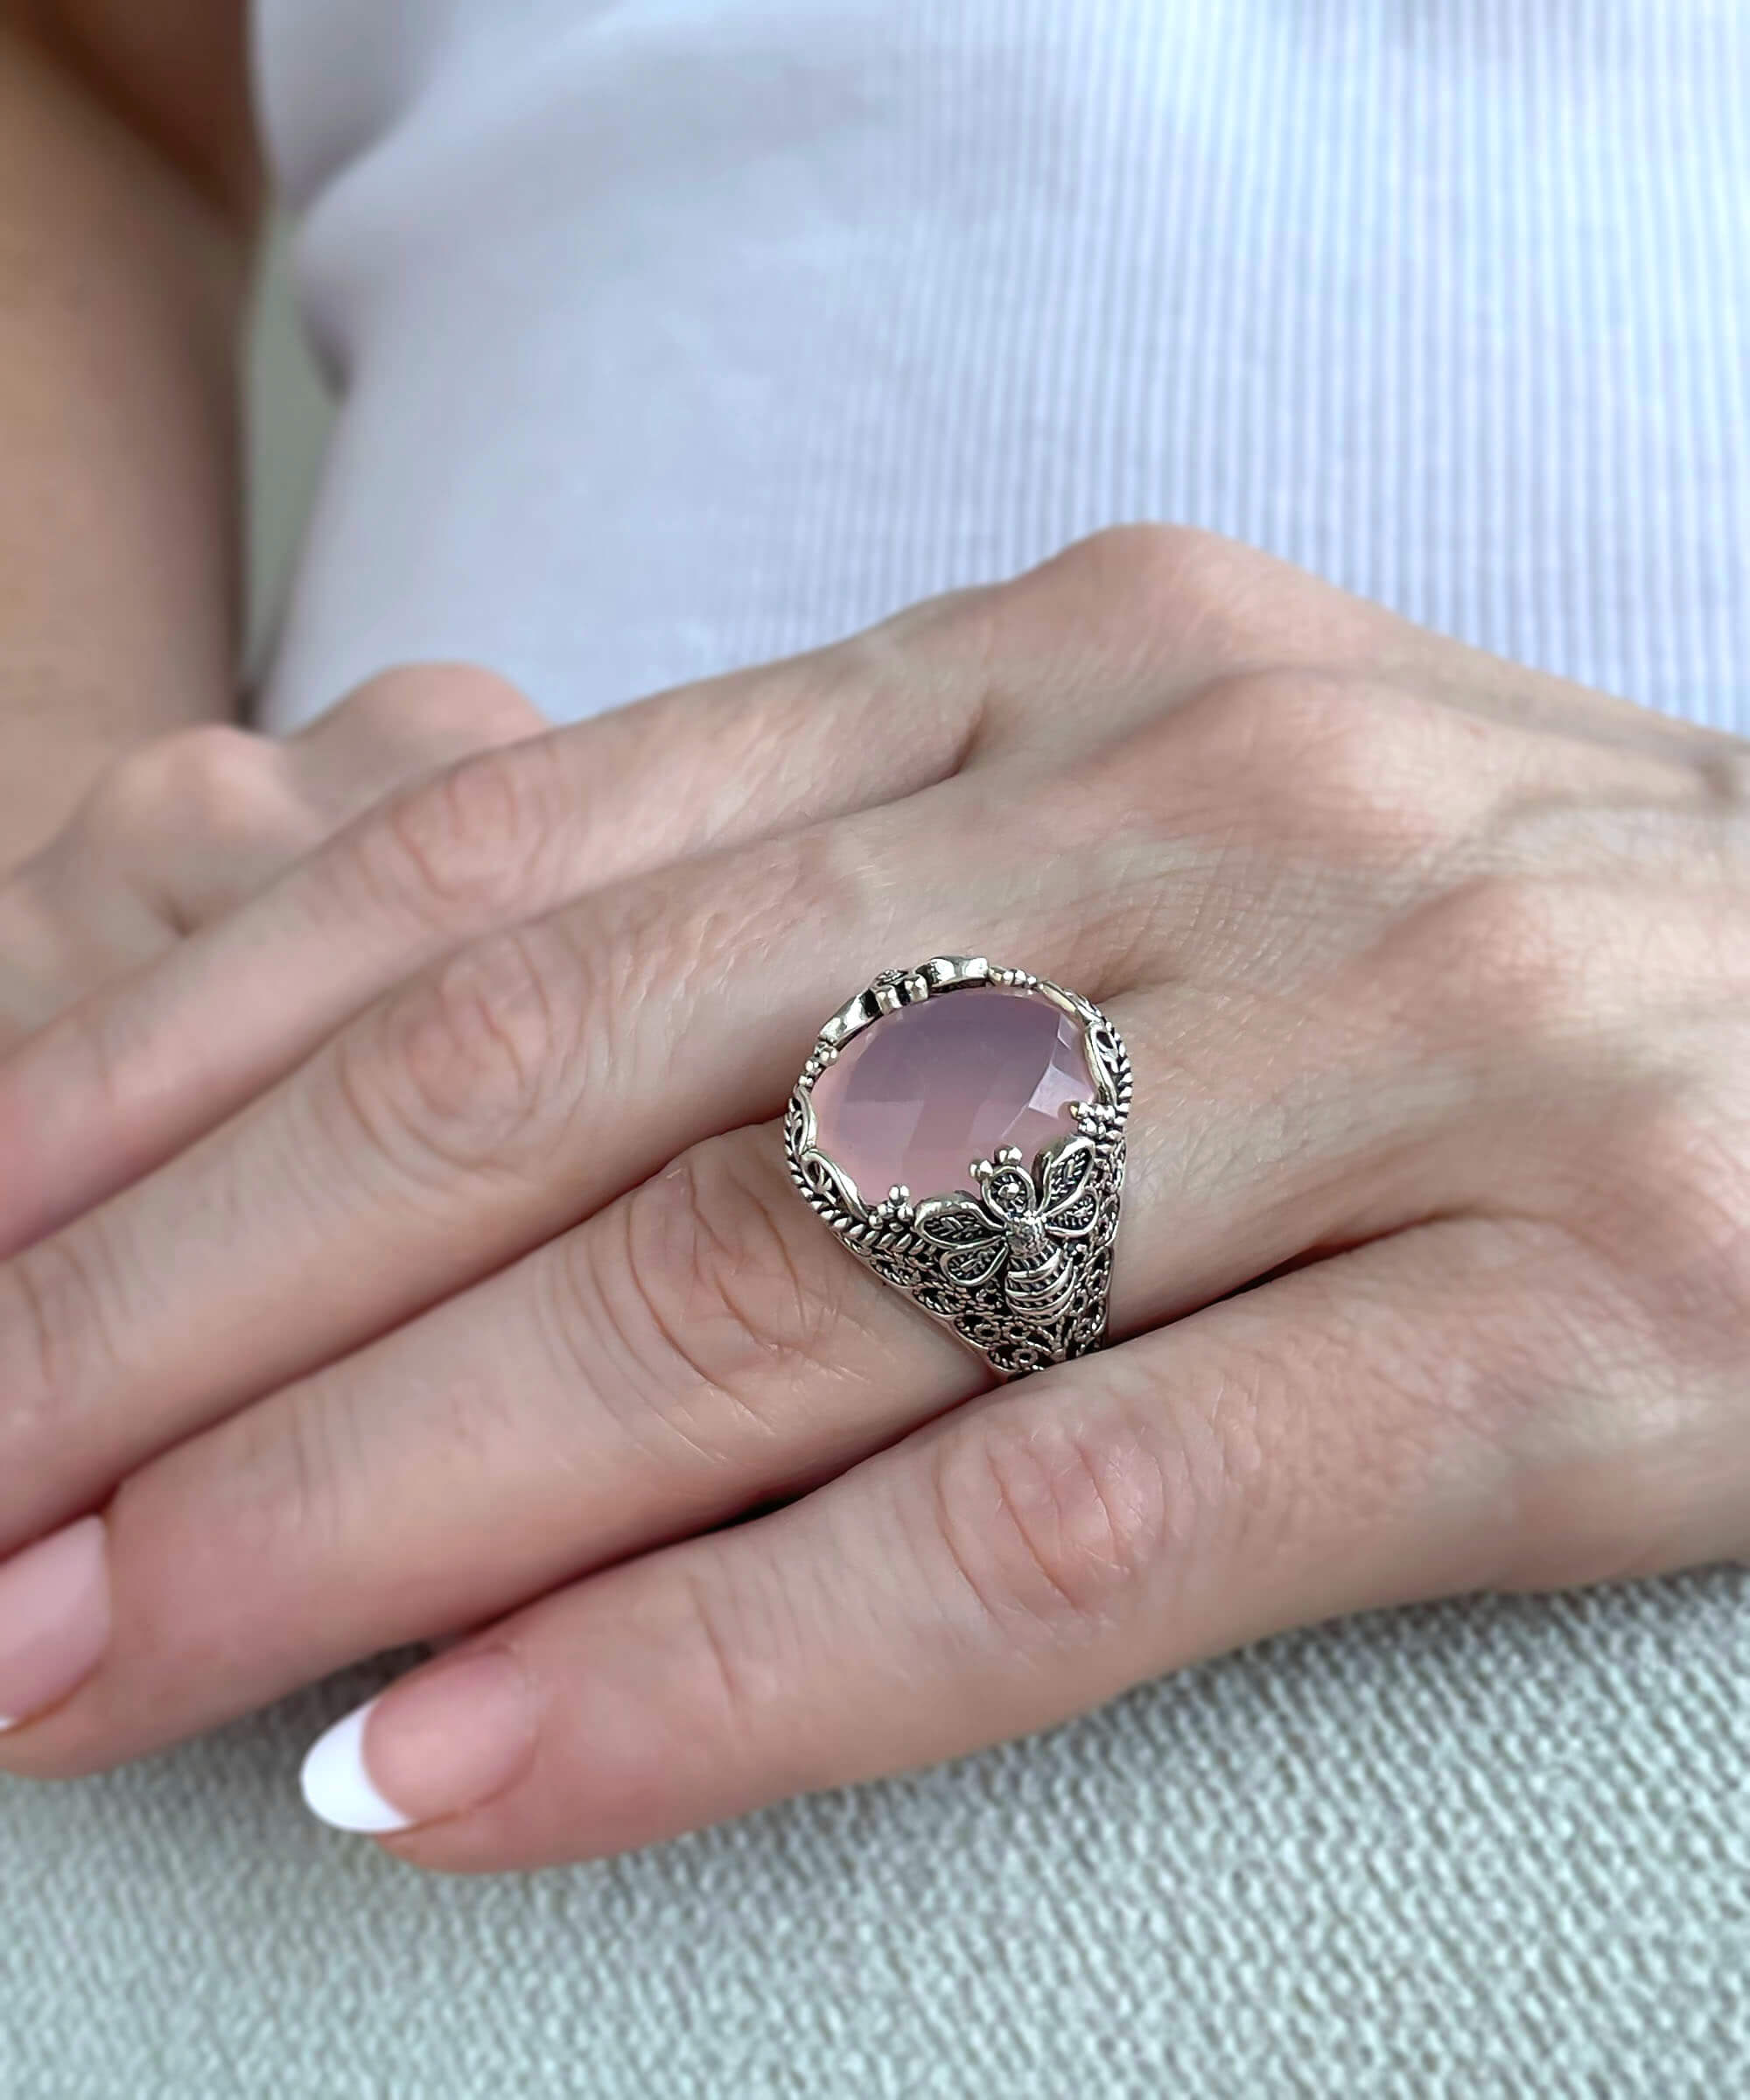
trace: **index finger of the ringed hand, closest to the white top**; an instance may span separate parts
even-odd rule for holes
[[[977,695],[866,676],[872,647],[462,760],[76,1006],[0,1067],[0,1252],[168,1159],[466,941],[954,773]]]

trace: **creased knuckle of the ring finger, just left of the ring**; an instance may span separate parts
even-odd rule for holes
[[[838,1250],[737,1132],[683,1153],[561,1247],[561,1323],[624,1428],[672,1464],[746,1464],[809,1420],[807,1392],[838,1373],[847,1277]],[[794,1214],[794,1216],[792,1216]],[[616,1354],[601,1380],[603,1338]]]

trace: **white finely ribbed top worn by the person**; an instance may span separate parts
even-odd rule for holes
[[[267,0],[347,407],[271,685],[559,716],[1118,519],[1750,718],[1739,0]]]

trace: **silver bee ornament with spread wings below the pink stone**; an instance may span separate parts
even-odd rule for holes
[[[1095,1147],[1059,1138],[1036,1163],[1038,1180],[1011,1144],[979,1159],[979,1195],[941,1195],[918,1205],[918,1233],[937,1250],[950,1283],[981,1289],[998,1273],[1011,1312],[1050,1325],[1076,1302],[1069,1243],[1099,1222]]]

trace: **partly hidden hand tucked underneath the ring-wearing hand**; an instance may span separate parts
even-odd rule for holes
[[[294,737],[141,743],[0,880],[0,1050],[256,897],[391,790],[546,727],[485,670],[387,672]]]

